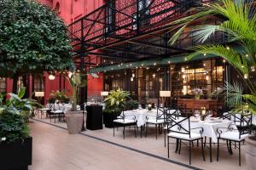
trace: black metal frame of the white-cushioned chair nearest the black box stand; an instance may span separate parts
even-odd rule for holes
[[[122,114],[120,114],[120,117],[119,119],[122,119],[124,121],[124,123],[121,123],[121,122],[113,122],[113,136],[114,136],[114,127],[119,127],[119,126],[115,126],[115,125],[122,125],[123,126],[123,136],[124,136],[124,139],[125,139],[125,127],[131,127],[131,126],[134,126],[134,134],[135,134],[135,138],[137,138],[137,121],[136,121],[136,116],[134,115],[131,115],[131,116],[125,116],[125,113],[123,111]],[[125,117],[131,117],[131,120],[133,120],[134,122],[131,122],[131,123],[125,123]]]

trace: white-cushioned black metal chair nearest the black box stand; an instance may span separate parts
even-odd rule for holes
[[[136,116],[125,116],[124,111],[117,117],[117,119],[113,120],[113,136],[114,136],[114,127],[123,127],[123,136],[125,139],[125,127],[134,127],[135,138],[137,138],[137,120]]]

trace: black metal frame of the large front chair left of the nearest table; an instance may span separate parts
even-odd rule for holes
[[[184,118],[183,120],[177,122],[175,120],[172,120],[172,125],[170,127],[168,127],[168,131],[170,133],[174,132],[174,133],[183,133],[183,134],[188,134],[189,135],[189,139],[191,138],[190,134],[191,134],[191,130],[195,130],[195,129],[201,129],[200,130],[200,133],[203,133],[203,127],[195,127],[195,128],[191,128],[190,127],[190,120],[189,120],[189,117],[190,116],[187,116],[186,118]],[[183,127],[180,123],[182,122],[188,122],[189,123],[189,129],[186,129],[185,127]],[[172,127],[174,126],[178,126],[178,130],[179,131],[176,131],[176,130],[173,130]],[[181,132],[180,130],[183,130],[183,132]],[[167,145],[168,145],[168,158],[170,157],[170,138],[174,138],[174,137],[170,137],[168,136],[167,137]],[[198,140],[198,139],[194,139],[194,140],[186,140],[186,139],[177,139],[177,138],[174,138],[177,140],[176,142],[176,150],[175,152],[177,153],[177,150],[178,150],[178,153],[180,154],[180,150],[181,150],[181,144],[182,144],[182,140],[185,140],[185,141],[188,141],[189,142],[189,165],[191,165],[191,148],[192,148],[192,142],[195,141],[195,140]],[[201,151],[202,151],[202,156],[203,156],[203,161],[205,161],[205,154],[204,154],[204,144],[203,144],[203,138],[201,137]]]

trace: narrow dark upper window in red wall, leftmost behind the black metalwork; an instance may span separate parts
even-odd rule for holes
[[[108,3],[106,10],[106,32],[113,31],[115,25],[115,2]]]

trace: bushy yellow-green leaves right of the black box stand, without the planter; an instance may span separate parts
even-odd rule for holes
[[[125,101],[130,98],[130,93],[122,89],[112,90],[108,97],[104,99],[106,104],[105,112],[121,113],[125,109]]]

